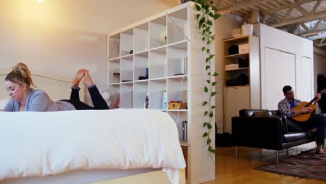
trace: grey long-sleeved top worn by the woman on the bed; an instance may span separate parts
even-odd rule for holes
[[[49,95],[40,89],[31,89],[26,97],[26,107],[24,111],[29,112],[56,112],[56,111],[71,111],[76,108],[65,101],[52,101]],[[11,99],[3,108],[5,112],[19,112],[20,103]]]

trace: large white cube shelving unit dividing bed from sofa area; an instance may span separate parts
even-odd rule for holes
[[[207,107],[202,106],[206,72],[196,13],[193,2],[184,3],[110,33],[107,47],[107,84],[118,91],[120,107],[143,108],[147,94],[149,109],[162,110],[176,121],[180,145],[187,150],[187,183],[215,179],[215,164],[202,138],[208,121],[203,117]],[[210,49],[214,52],[214,45]],[[181,100],[187,109],[162,106],[164,93],[168,103]],[[187,141],[182,138],[182,121],[187,121]],[[211,136],[214,146],[214,131]]]

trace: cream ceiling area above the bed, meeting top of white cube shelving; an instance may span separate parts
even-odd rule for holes
[[[180,0],[1,0],[0,19],[95,33],[111,33]]]

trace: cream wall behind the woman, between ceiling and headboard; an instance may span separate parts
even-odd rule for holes
[[[10,69],[22,61],[31,72],[72,79],[79,68],[88,68],[95,83],[105,84],[107,36],[104,34],[0,19],[0,40],[1,69]]]

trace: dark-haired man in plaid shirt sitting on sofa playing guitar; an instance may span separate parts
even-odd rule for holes
[[[311,113],[311,107],[302,107],[300,109],[293,109],[300,105],[301,101],[295,99],[294,92],[291,86],[284,86],[283,93],[285,98],[279,102],[278,108],[279,112],[284,116],[288,117],[288,130],[289,131],[311,131],[317,128],[316,132],[316,153],[324,154],[323,147],[325,144],[325,129],[326,129],[326,116],[324,114],[316,114],[311,116],[307,121],[300,122],[295,121],[293,118],[300,114]],[[313,104],[316,104],[320,100],[320,93],[317,93],[316,100]]]

